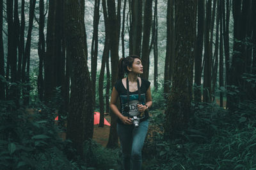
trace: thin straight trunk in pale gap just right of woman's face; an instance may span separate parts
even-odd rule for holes
[[[155,0],[155,9],[154,9],[154,24],[152,29],[152,35],[154,35],[154,88],[158,89],[158,17],[157,17],[157,0]]]

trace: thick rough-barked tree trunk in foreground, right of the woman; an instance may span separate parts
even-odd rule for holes
[[[179,16],[179,17],[178,17]],[[191,112],[193,83],[193,51],[196,36],[195,1],[175,1],[176,48],[172,79],[172,91],[165,111],[165,135],[169,139],[179,137],[188,127]],[[177,133],[178,132],[178,133]]]

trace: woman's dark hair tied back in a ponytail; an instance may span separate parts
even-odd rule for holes
[[[126,58],[121,58],[118,62],[118,79],[124,78],[124,73],[129,73],[127,70],[127,66],[132,67],[132,63],[134,59],[140,59],[139,56],[131,55],[127,56]],[[141,59],[140,59],[141,60]]]

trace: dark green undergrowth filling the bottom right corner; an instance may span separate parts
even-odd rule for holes
[[[213,104],[194,107],[184,139],[164,140],[159,133],[145,145],[150,150],[144,169],[256,168],[256,104],[246,101],[236,112]],[[159,127],[159,112],[152,123]],[[163,117],[163,116],[160,116]],[[161,129],[161,128],[159,128]]]

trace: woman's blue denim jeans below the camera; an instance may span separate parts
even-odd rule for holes
[[[148,120],[138,128],[117,123],[117,134],[122,147],[122,164],[125,170],[141,169],[141,150],[148,131]]]

